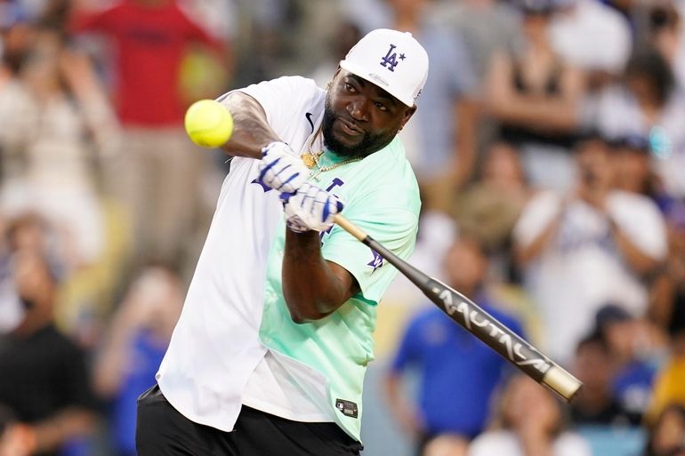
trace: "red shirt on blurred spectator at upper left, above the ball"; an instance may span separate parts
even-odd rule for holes
[[[116,104],[123,124],[181,124],[180,70],[187,45],[222,45],[181,11],[175,1],[145,6],[123,0],[101,12],[77,12],[72,31],[95,31],[116,45]]]

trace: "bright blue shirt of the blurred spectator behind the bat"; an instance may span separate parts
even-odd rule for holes
[[[519,322],[478,300],[481,307],[514,332]],[[450,320],[439,308],[411,321],[391,364],[391,374],[420,371],[418,405],[423,433],[472,438],[488,419],[490,397],[503,376],[506,361],[492,348]]]

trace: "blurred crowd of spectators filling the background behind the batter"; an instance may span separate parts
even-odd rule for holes
[[[431,59],[401,132],[412,263],[584,382],[560,404],[399,277],[377,355],[408,453],[685,456],[683,21],[681,0],[0,0],[0,456],[135,455],[228,171],[185,108],[324,87],[373,28]]]

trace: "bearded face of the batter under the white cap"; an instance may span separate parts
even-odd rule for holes
[[[324,142],[338,156],[367,156],[387,146],[414,111],[377,85],[340,69],[326,95]]]

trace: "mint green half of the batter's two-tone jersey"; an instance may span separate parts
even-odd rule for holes
[[[329,151],[319,158],[321,167],[340,162],[342,159]],[[313,171],[316,174],[316,168]],[[342,164],[310,181],[340,197],[345,204],[342,214],[400,258],[407,259],[414,251],[421,201],[398,138],[363,160]],[[267,263],[262,343],[292,358],[295,363],[289,365],[301,365],[301,372],[292,372],[291,367],[295,381],[302,379],[298,386],[319,404],[325,400],[332,419],[360,440],[362,386],[367,364],[374,359],[376,305],[397,269],[335,225],[321,234],[323,257],[348,270],[361,292],[330,316],[295,324],[281,287],[285,222],[276,232]],[[314,397],[316,388],[304,384],[312,378],[307,371],[318,372],[325,379],[326,388],[318,389],[326,391],[326,397]]]

